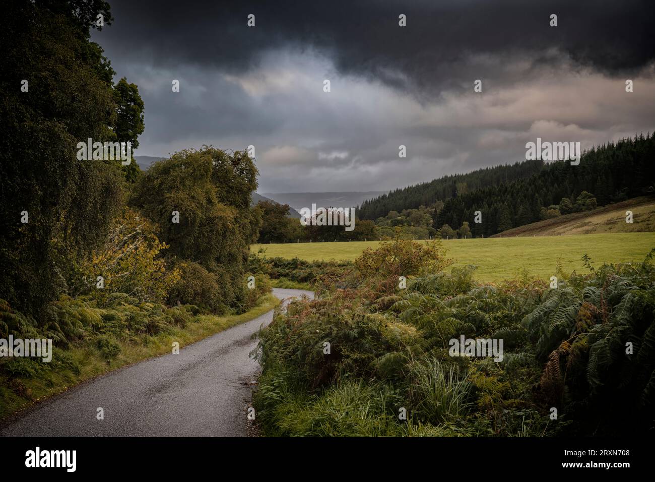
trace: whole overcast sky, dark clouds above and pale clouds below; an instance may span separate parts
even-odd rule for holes
[[[652,0],[109,3],[92,39],[139,87],[136,155],[252,144],[259,192],[390,190],[655,127]]]

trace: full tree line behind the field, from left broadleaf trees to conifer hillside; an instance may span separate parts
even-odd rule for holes
[[[259,203],[263,227],[259,243],[363,241],[490,236],[540,220],[591,211],[654,191],[655,167],[650,133],[591,148],[580,164],[525,161],[446,176],[392,191],[356,209],[353,232],[336,226],[301,226],[288,216],[290,207]],[[392,207],[389,211],[386,211]],[[369,216],[375,216],[371,221]]]

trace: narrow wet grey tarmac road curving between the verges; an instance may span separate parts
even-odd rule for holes
[[[310,291],[273,289],[280,299]],[[119,369],[0,427],[2,436],[246,436],[253,333],[272,311],[179,351]],[[102,407],[104,420],[96,419]]]

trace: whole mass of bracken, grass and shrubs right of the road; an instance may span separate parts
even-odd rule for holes
[[[385,252],[394,250],[378,257],[387,259]],[[359,287],[293,302],[261,332],[254,402],[267,434],[535,437],[653,429],[652,256],[641,266],[558,273],[566,279],[557,289],[530,277],[479,285],[469,267],[418,269],[407,289],[372,294],[369,281],[379,271],[362,266],[367,277]],[[449,340],[462,334],[502,338],[503,361],[449,356]],[[400,407],[407,421],[398,420]],[[550,420],[551,407],[558,420]]]

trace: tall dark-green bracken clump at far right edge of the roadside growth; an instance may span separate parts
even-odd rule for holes
[[[641,270],[604,265],[546,292],[525,317],[536,355],[546,361],[544,399],[580,418],[578,430],[616,433],[652,413],[654,282],[648,260]]]

